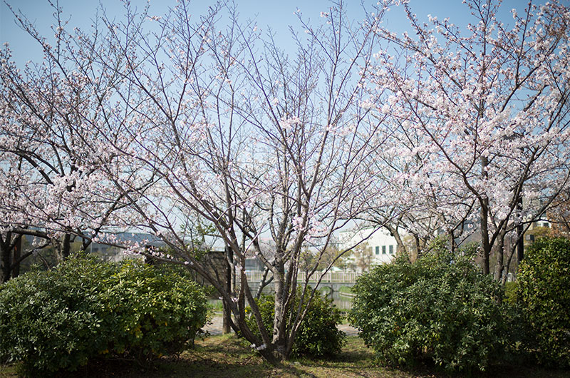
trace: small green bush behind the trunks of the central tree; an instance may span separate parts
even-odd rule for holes
[[[294,309],[299,305],[299,292],[297,290]],[[309,295],[309,292],[307,292]],[[275,299],[273,295],[262,295],[257,301],[257,306],[261,312],[261,318],[267,330],[273,329],[273,317]],[[251,310],[247,308],[247,312],[251,314]],[[326,355],[341,352],[343,344],[346,342],[346,334],[338,330],[336,325],[342,322],[341,310],[333,305],[333,300],[315,292],[315,296],[311,301],[306,317],[301,322],[301,326],[295,336],[293,349],[291,354],[294,356],[311,356],[322,357]],[[250,330],[257,332],[257,324],[253,316],[247,320]]]

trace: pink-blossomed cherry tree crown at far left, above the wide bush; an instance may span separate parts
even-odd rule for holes
[[[105,181],[101,168],[120,169],[121,163],[102,150],[99,141],[117,141],[120,125],[131,117],[111,99],[120,86],[117,69],[94,71],[93,51],[115,54],[108,57],[115,63],[120,60],[111,46],[104,46],[105,41],[66,33],[61,9],[54,6],[54,11],[53,44],[24,15],[14,14],[41,44],[41,63],[28,63],[19,70],[9,47],[0,51],[3,280],[39,247],[11,256],[22,235],[45,240],[43,246],[56,245],[61,259],[69,255],[76,237],[81,237],[86,250],[102,228],[123,225],[113,213],[128,204],[125,195]]]

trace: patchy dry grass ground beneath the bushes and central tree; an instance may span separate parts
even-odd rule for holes
[[[537,367],[494,367],[482,377],[568,377],[569,372]],[[15,365],[0,365],[0,377],[17,377]],[[413,371],[382,367],[375,363],[373,351],[358,337],[348,337],[343,352],[328,359],[299,358],[279,367],[264,362],[243,339],[233,335],[198,340],[195,349],[178,357],[162,357],[151,366],[133,362],[103,360],[90,363],[77,372],[58,373],[57,377],[445,377],[430,367]]]

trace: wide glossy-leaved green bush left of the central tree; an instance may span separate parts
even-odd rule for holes
[[[173,270],[75,256],[0,287],[0,359],[34,374],[95,357],[142,361],[180,352],[206,317],[202,290]]]

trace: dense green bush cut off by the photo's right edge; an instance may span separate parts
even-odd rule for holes
[[[527,349],[538,362],[570,367],[570,240],[535,241],[517,280],[518,298],[532,330]]]

